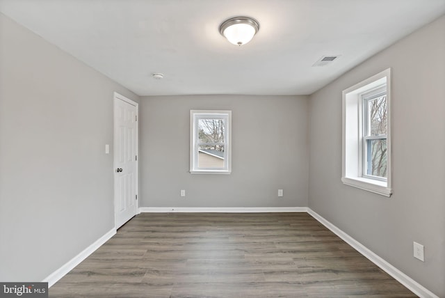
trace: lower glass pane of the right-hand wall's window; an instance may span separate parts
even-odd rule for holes
[[[387,140],[367,140],[367,175],[387,177]]]

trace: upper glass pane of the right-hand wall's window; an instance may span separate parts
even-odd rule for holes
[[[368,100],[369,136],[387,134],[387,95]]]

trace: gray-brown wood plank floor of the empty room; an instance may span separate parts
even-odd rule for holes
[[[306,213],[143,213],[49,297],[416,295]]]

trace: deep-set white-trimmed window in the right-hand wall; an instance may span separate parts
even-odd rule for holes
[[[345,185],[391,196],[391,70],[343,91]]]

